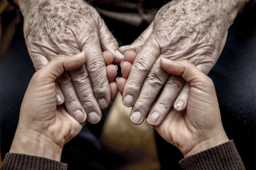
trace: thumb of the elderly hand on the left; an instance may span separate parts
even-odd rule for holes
[[[100,20],[99,41],[102,51],[108,50],[114,54],[113,62],[115,64],[119,65],[124,60],[123,54],[118,50],[119,45],[117,40],[108,30],[108,27],[105,25],[105,22],[102,19]]]

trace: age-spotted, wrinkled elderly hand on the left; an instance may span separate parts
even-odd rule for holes
[[[98,12],[84,0],[16,0],[16,3],[24,16],[24,36],[36,70],[58,54],[85,52],[86,65],[64,72],[57,79],[56,98],[59,105],[65,103],[73,117],[86,113],[89,122],[99,122],[100,108],[111,102],[102,50],[112,52],[117,64],[123,60],[123,54]]]

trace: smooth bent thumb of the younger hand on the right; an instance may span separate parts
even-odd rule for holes
[[[189,82],[190,86],[196,87],[197,89],[202,89],[201,83],[210,79],[187,60],[173,62],[162,58],[160,64],[168,73],[181,75],[184,80]]]

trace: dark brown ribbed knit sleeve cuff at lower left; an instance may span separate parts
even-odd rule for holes
[[[0,170],[67,170],[68,164],[25,154],[7,153]]]

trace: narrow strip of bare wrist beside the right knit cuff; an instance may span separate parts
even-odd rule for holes
[[[228,139],[225,131],[223,130],[223,132],[217,134],[216,136],[197,143],[191,150],[183,153],[183,155],[184,155],[184,157],[191,156],[196,153],[202,152],[203,150],[215,147],[217,145],[220,145],[220,144],[228,142],[228,141],[229,141],[229,139]]]

